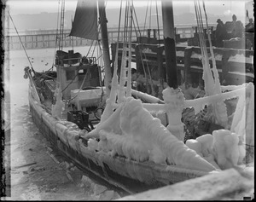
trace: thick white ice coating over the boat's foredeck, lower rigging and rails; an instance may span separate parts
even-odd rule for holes
[[[183,108],[194,107],[195,113],[199,113],[202,107],[212,104],[218,124],[225,126],[227,124],[227,111],[224,100],[241,97],[245,93],[245,89],[251,90],[253,88],[249,88],[253,84],[239,87],[220,87],[216,66],[213,66],[211,70],[207,57],[202,58],[206,97],[184,101],[183,96],[179,95],[180,92],[166,88],[163,91],[165,104],[157,104],[157,102],[160,103],[159,100],[140,93],[139,96],[143,97],[142,100],[149,99],[154,102],[154,104],[143,104],[142,101],[135,100],[125,94],[126,81],[129,80],[127,85],[129,88],[131,87],[129,73],[128,77],[126,76],[126,72],[131,71],[131,65],[128,65],[128,69],[125,67],[128,60],[126,57],[127,50],[123,49],[123,51],[125,56],[122,59],[120,83],[117,76],[117,51],[111,93],[106,101],[107,106],[102,114],[101,122],[95,130],[84,135],[85,138],[89,138],[88,147],[90,150],[100,150],[112,156],[118,154],[139,162],[149,160],[155,164],[177,164],[184,168],[204,171],[226,169],[241,162],[244,157],[244,149],[238,145],[239,139],[242,139],[241,133],[245,134],[244,130],[253,131],[254,129],[254,124],[244,126],[244,122],[238,121],[238,117],[241,117],[242,114],[241,107],[237,107],[237,112],[234,115],[237,118],[233,120],[236,125],[239,125],[237,126],[239,130],[236,131],[240,134],[236,135],[229,130],[215,130],[213,136],[208,134],[196,140],[187,141],[186,144],[192,149],[177,138],[183,140],[183,123],[181,122]],[[215,79],[212,78],[212,72]],[[222,90],[231,91],[222,93]],[[134,91],[131,90],[131,92],[134,95]],[[251,95],[253,95],[252,92]],[[118,103],[116,103],[116,98],[118,98]],[[247,103],[250,110],[254,108],[252,101],[253,98],[250,96],[250,101]],[[160,119],[154,118],[149,111],[167,113],[169,121],[167,128],[160,124]],[[249,118],[252,118],[252,114],[247,115],[247,119]],[[235,130],[235,127],[233,128]],[[94,138],[99,138],[100,141],[97,142]]]

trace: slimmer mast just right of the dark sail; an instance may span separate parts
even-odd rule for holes
[[[104,85],[106,86],[106,94],[107,96],[110,95],[111,86],[111,67],[110,67],[110,56],[109,56],[109,47],[108,47],[108,27],[107,27],[107,18],[106,18],[106,10],[104,0],[98,0],[99,6],[99,23],[101,25],[102,31],[102,50],[103,50],[103,60],[104,60],[104,69],[105,69],[105,78],[104,78]]]

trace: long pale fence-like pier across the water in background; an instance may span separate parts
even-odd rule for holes
[[[213,26],[211,26],[213,27]],[[175,32],[179,38],[193,38],[194,33],[196,32],[196,26],[177,26],[175,28]],[[69,36],[70,30],[64,31],[64,41],[63,47],[76,47],[76,46],[90,46],[92,43],[89,39],[84,38],[76,38]],[[122,38],[124,35],[124,29],[120,29],[119,38]],[[26,31],[21,33],[20,38],[17,36],[15,32],[8,33],[5,36],[5,49],[22,49],[23,43],[26,49],[47,49],[47,48],[55,48],[59,46],[59,40],[57,40],[57,32],[56,30],[38,30],[38,31]],[[99,34],[99,37],[101,34]],[[159,39],[163,36],[163,29],[160,28],[159,33],[157,28],[148,28],[143,27],[137,29],[137,32],[132,32],[132,40],[136,41],[137,37],[154,37]],[[108,39],[109,43],[115,43],[118,38],[118,27],[116,28],[108,28]]]

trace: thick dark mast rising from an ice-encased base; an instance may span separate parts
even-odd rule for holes
[[[166,52],[167,84],[177,89],[177,61],[172,0],[162,0],[164,43]]]

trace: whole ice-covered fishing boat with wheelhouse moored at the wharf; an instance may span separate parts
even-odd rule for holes
[[[94,1],[79,1],[78,6],[84,7],[84,3],[95,4]],[[100,19],[105,20],[104,4],[99,3]],[[132,2],[127,1],[127,19],[131,19],[132,6]],[[167,3],[166,8],[168,6],[170,4]],[[90,12],[93,10],[90,7]],[[76,16],[74,23],[75,20]],[[126,23],[129,33],[132,20]],[[106,28],[106,24],[104,26]],[[102,41],[105,31],[103,28]],[[106,88],[98,83],[101,72],[93,58],[84,58],[83,61],[73,52],[59,52],[56,75],[25,68],[26,77],[30,80],[30,111],[44,136],[80,168],[131,192],[139,187],[157,188],[182,182],[241,163],[245,151],[242,144],[253,142],[253,84],[220,87],[214,68],[215,80],[209,74],[211,71],[206,69],[207,96],[185,101],[180,89],[166,87],[163,90],[164,101],[160,101],[131,89],[129,35],[125,40],[120,76],[118,78],[116,60],[113,78],[105,77]],[[108,54],[104,62],[107,73]],[[203,62],[207,66],[207,58]],[[111,88],[108,88],[109,84]],[[104,93],[107,95],[106,107],[101,120],[93,122],[93,114],[88,113],[88,108],[97,108]],[[132,95],[149,103],[143,103]],[[224,100],[236,97],[239,100],[230,121]],[[216,130],[212,136],[206,135],[185,144],[181,121],[183,108],[194,107],[198,113],[205,105],[212,106],[212,114],[226,130]],[[167,118],[156,118],[161,113],[166,113]],[[162,123],[166,120],[165,126]]]

